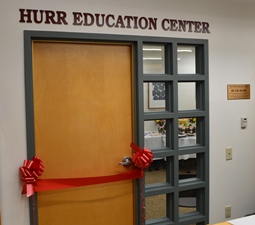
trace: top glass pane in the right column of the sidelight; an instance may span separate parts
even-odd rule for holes
[[[196,73],[196,48],[194,46],[177,47],[178,74]]]

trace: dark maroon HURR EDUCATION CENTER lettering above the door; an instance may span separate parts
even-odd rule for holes
[[[209,23],[201,21],[162,19],[152,17],[123,16],[113,14],[72,12],[72,21],[67,20],[65,11],[19,9],[20,23],[56,24],[74,26],[97,26],[122,29],[210,33]]]

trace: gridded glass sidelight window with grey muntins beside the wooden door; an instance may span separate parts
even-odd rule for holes
[[[145,224],[206,224],[208,62],[199,40],[143,42]]]

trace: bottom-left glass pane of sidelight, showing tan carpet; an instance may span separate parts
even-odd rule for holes
[[[166,217],[166,195],[145,198],[146,220]]]

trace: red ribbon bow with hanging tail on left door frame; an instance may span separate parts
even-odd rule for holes
[[[21,180],[24,182],[22,194],[30,197],[34,194],[34,184],[39,176],[43,174],[44,165],[41,159],[34,156],[32,160],[24,160],[23,166],[19,168]]]

